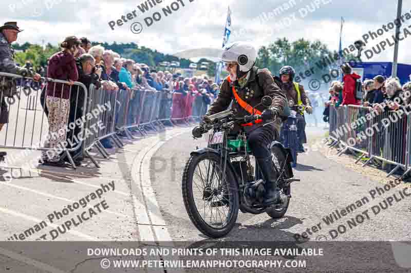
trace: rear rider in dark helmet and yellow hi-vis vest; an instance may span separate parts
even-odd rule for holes
[[[279,70],[279,76],[281,77],[281,81],[283,82],[282,88],[287,96],[287,100],[293,101],[294,104],[300,105],[304,104],[305,110],[308,114],[312,114],[312,107],[310,99],[306,96],[304,87],[299,85],[297,82],[294,82],[294,75],[295,70],[290,66],[284,66]],[[307,143],[307,135],[305,133],[305,117],[304,117],[304,110],[298,111],[296,118],[297,122],[297,132],[298,138],[300,139],[300,151],[305,152],[303,143]]]

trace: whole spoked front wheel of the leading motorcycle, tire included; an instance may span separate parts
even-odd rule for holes
[[[227,235],[237,220],[238,186],[229,166],[215,153],[193,155],[185,164],[182,195],[185,209],[201,233]],[[225,173],[223,173],[225,172]]]

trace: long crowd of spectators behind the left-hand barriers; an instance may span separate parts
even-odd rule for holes
[[[2,31],[0,35],[3,36],[0,38],[4,37],[3,44],[7,46],[5,50],[11,52],[11,43],[16,40],[17,33],[21,30],[18,29],[15,22],[8,22],[2,28],[0,29]],[[132,125],[137,122],[135,113],[136,110],[142,107],[141,102],[137,99],[138,92],[161,92],[164,93],[169,102],[172,101],[173,94],[181,94],[180,97],[200,96],[207,106],[219,92],[217,84],[207,75],[184,77],[178,72],[157,71],[141,62],[123,58],[118,53],[105,49],[101,45],[92,46],[86,37],[68,36],[60,44],[60,47],[61,51],[53,54],[47,60],[47,67],[33,68],[31,62],[27,62],[23,67],[20,67],[14,61],[12,61],[10,67],[0,66],[0,72],[18,74],[16,73],[16,68],[18,68],[21,69],[22,73],[25,73],[25,76],[35,77],[36,81],[40,80],[40,76],[45,76],[69,82],[69,84],[49,83],[42,90],[40,101],[48,117],[49,134],[54,133],[57,135],[56,133],[65,130],[70,122],[74,122],[74,120],[81,117],[85,96],[82,89],[73,88],[76,81],[83,83],[87,90],[90,90],[91,85],[94,85],[97,90],[101,88],[105,92],[117,95],[114,122],[120,136],[125,136],[121,126]],[[7,52],[7,54],[9,53]],[[20,71],[18,69],[17,71]],[[4,97],[2,101],[4,101]],[[186,101],[192,102],[192,100]],[[170,103],[169,108],[172,107]],[[180,107],[187,106],[180,105]],[[206,111],[207,107],[203,109],[202,114]],[[0,130],[3,124],[8,123],[8,109],[4,102],[2,104],[2,115]],[[76,125],[76,128],[67,135],[58,135],[58,137],[48,139],[44,144],[45,148],[52,149],[61,145],[67,139],[72,139],[74,135],[79,134],[82,126]],[[104,148],[113,148],[113,143],[110,142],[109,138],[102,139],[101,142]],[[73,147],[68,144],[65,148]],[[70,154],[75,159],[74,163],[76,165],[80,165],[84,160],[81,147],[70,152]],[[54,154],[50,156],[47,151],[44,151],[39,163],[66,166],[68,158],[61,155]]]

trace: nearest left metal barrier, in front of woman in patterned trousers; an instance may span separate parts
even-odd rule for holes
[[[71,86],[68,81],[42,78],[44,83],[42,93],[51,90],[54,97],[47,104],[44,96],[39,96],[40,92],[33,93],[30,88],[26,88],[27,81],[24,79],[27,78],[0,72],[0,101],[2,103],[0,114],[1,111],[7,110],[9,113],[8,123],[0,131],[0,148],[45,151],[50,155],[49,159],[59,157],[59,160],[63,160],[67,157],[68,161],[75,167],[71,152],[78,151],[83,144],[82,141],[71,141],[70,145],[66,147],[62,147],[62,144],[67,144],[65,142],[68,140],[65,127],[69,123],[69,116],[85,114],[86,87],[81,82],[74,82]],[[10,94],[10,90],[15,92]],[[63,94],[67,92],[69,98],[64,99]],[[76,99],[72,101],[74,93],[77,95]],[[25,107],[21,107],[21,105],[25,105]],[[50,106],[53,114],[51,126],[48,122],[48,107]],[[50,128],[53,131],[49,132]],[[83,133],[83,130],[81,128],[79,132]],[[50,148],[50,141],[60,142],[59,149]],[[28,152],[24,155],[26,154]],[[23,158],[24,155],[22,154]]]

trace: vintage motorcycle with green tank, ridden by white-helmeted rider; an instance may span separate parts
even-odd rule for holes
[[[265,96],[260,104],[269,107],[271,103],[272,99]],[[270,145],[281,201],[264,206],[265,181],[247,143],[246,133],[241,129],[239,134],[230,135],[234,123],[250,123],[257,119],[261,116],[236,118],[231,110],[226,110],[208,116],[203,127],[196,128],[201,133],[210,130],[212,133],[207,148],[193,151],[185,164],[182,195],[191,221],[204,235],[212,238],[227,235],[236,222],[238,210],[267,213],[272,218],[281,218],[287,212],[290,184],[300,181],[292,179],[290,150],[277,141]]]

